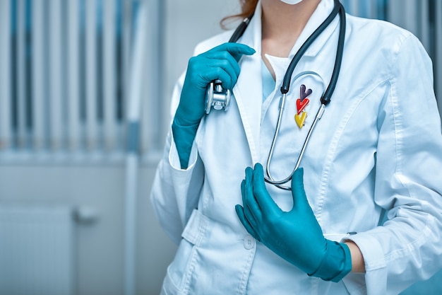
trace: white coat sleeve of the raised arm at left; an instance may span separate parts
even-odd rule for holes
[[[184,74],[177,82],[172,95],[172,118],[179,103],[183,81]],[[172,128],[169,128],[164,153],[155,173],[150,199],[162,228],[175,243],[181,240],[184,226],[193,209],[197,207],[203,177],[203,163],[198,157],[195,142],[191,149],[189,168],[181,169]]]

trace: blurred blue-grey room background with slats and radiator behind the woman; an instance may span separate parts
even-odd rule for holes
[[[0,0],[1,295],[159,294],[176,246],[149,193],[169,98],[238,2]],[[441,0],[342,4],[417,35],[442,99]],[[404,294],[442,294],[441,276]]]

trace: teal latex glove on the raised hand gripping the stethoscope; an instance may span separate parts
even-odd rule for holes
[[[239,43],[225,43],[189,59],[186,78],[172,132],[177,145],[181,168],[187,168],[196,130],[205,115],[205,93],[208,84],[216,79],[222,87],[232,90],[239,76],[239,59],[254,54],[251,47]]]

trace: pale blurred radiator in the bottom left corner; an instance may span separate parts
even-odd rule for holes
[[[0,204],[0,294],[73,295],[69,207]]]

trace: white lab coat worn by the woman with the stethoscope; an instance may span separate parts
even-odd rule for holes
[[[229,110],[212,111],[202,120],[188,169],[179,169],[171,132],[167,137],[151,198],[179,248],[162,294],[386,295],[429,278],[442,266],[442,136],[431,61],[416,37],[382,21],[347,16],[338,85],[301,162],[306,195],[325,237],[357,243],[366,274],[350,273],[338,283],[309,277],[241,225],[234,206],[242,204],[244,169],[257,162],[265,166],[287,69],[287,59],[268,57],[276,86],[263,102],[259,7],[239,40],[256,54],[241,59]],[[290,58],[332,8],[333,0],[321,1]],[[338,23],[337,17],[309,47],[294,75],[315,71],[328,85]],[[196,54],[231,34],[202,42]],[[183,81],[181,76],[174,91],[172,115]],[[319,105],[321,83],[307,82],[313,94],[302,129],[293,115],[304,81],[294,81],[289,92],[272,162],[277,179],[294,167]],[[290,192],[270,185],[268,190],[282,209],[290,209]],[[388,221],[381,224],[384,211]],[[357,234],[346,236],[349,232]]]

